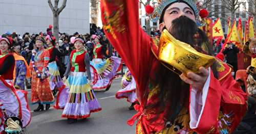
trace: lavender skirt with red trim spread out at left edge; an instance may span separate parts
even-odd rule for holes
[[[0,77],[0,133],[4,131],[4,122],[10,117],[18,118],[23,127],[31,120],[31,113],[24,90],[15,90],[8,80]],[[5,110],[5,111],[3,111]]]

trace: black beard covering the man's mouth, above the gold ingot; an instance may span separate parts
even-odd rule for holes
[[[197,24],[186,16],[180,16],[172,21],[168,32],[177,40],[190,44],[194,47],[194,35],[198,32]]]

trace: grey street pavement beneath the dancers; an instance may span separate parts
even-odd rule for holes
[[[77,123],[68,124],[66,118],[61,118],[62,110],[51,108],[48,111],[32,112],[30,124],[26,127],[26,134],[45,133],[123,133],[134,134],[135,126],[129,126],[126,121],[130,119],[135,111],[128,108],[131,105],[126,99],[116,99],[115,93],[120,88],[121,79],[114,79],[109,91],[96,92],[96,97],[102,106],[102,111],[92,113],[87,119],[80,119]],[[30,101],[29,91],[29,101]],[[52,106],[52,105],[51,105]],[[31,111],[37,108],[37,104],[30,105]]]

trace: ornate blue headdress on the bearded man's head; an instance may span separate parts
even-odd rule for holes
[[[194,0],[158,0],[157,3],[154,3],[154,5],[155,5],[154,12],[152,14],[148,14],[151,21],[157,22],[160,19],[161,14],[162,14],[163,10],[165,9],[165,7],[172,3],[176,3],[176,2],[184,2],[184,3],[188,4],[195,13],[195,16],[198,21],[197,25],[198,26],[202,25],[200,22],[199,10],[198,10],[198,7]]]

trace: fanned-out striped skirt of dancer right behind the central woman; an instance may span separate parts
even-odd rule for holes
[[[93,59],[91,65],[96,69],[98,75],[93,89],[105,89],[111,85],[116,73],[121,69],[121,58],[111,57],[105,61],[102,61],[102,59]]]

